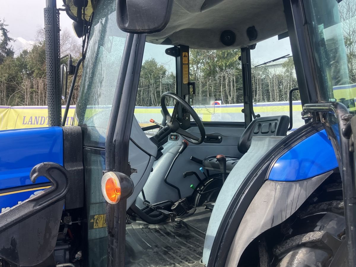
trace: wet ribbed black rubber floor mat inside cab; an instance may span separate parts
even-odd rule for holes
[[[184,225],[149,225],[135,222],[126,226],[125,266],[203,266],[204,238]]]

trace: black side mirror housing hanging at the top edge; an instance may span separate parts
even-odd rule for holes
[[[166,28],[173,0],[116,0],[116,23],[124,32],[155,33]]]

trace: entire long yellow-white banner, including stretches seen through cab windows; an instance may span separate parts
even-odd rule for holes
[[[209,107],[211,114],[199,114],[202,121],[244,121],[244,114],[241,112],[243,104],[214,105]],[[110,108],[110,107],[109,107]],[[167,107],[172,113],[173,107]],[[65,106],[62,106],[62,114]],[[100,111],[108,107],[92,107],[87,109],[85,119],[90,120]],[[289,115],[288,102],[258,103],[253,105],[256,114],[261,116]],[[75,106],[70,106],[65,126],[73,125]],[[300,101],[293,102],[294,121],[296,127],[302,126],[304,120],[300,117],[302,105]],[[108,114],[106,114],[108,115]],[[135,107],[135,117],[141,127],[153,125],[150,119],[162,121],[161,107]],[[91,122],[92,123],[92,122]],[[0,130],[24,129],[48,127],[47,106],[0,106]]]

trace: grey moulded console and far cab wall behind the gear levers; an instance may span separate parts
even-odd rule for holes
[[[196,129],[196,127],[192,127],[188,131],[194,133]],[[219,132],[224,129],[225,134],[225,128],[222,127],[205,127],[205,129],[206,132],[209,133]],[[243,128],[233,128],[233,130],[230,130],[229,134],[234,134],[234,136],[221,135],[221,143],[202,143],[200,145],[193,145],[189,143],[188,147],[174,163],[167,181],[179,187],[182,198],[191,195],[193,193],[193,189],[190,188],[190,185],[197,185],[198,180],[195,176],[183,178],[183,173],[187,171],[195,171],[201,179],[204,179],[205,177],[199,171],[199,168],[202,166],[191,161],[190,156],[200,159],[216,154],[242,156],[242,154],[237,150],[237,144],[239,143],[239,138],[244,130],[245,129]],[[143,188],[145,197],[148,201],[150,201],[150,203],[158,203],[168,199],[176,201],[179,199],[177,190],[164,183],[164,177],[166,176],[170,165],[167,164],[167,162],[173,161],[174,157],[178,153],[183,139],[184,138],[180,136],[178,141],[168,141],[164,145],[164,150],[162,151],[163,155],[153,164],[153,171],[150,174],[145,187]],[[140,194],[136,201],[136,205],[139,208],[145,207],[142,204],[142,201],[142,194]]]

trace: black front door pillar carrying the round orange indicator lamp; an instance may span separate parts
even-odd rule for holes
[[[126,70],[122,69],[125,65],[120,68],[105,140],[106,171],[120,172],[127,176],[131,175],[129,141],[145,40],[145,35],[127,35],[122,61],[122,64],[127,64],[127,67]],[[124,267],[126,199],[121,199],[115,205],[106,203],[106,222],[108,267]]]

